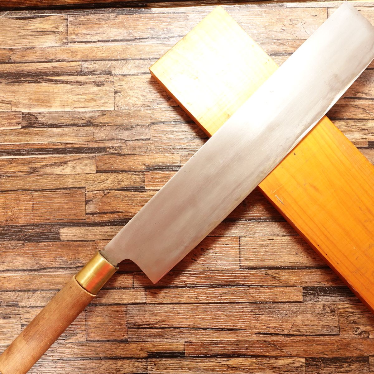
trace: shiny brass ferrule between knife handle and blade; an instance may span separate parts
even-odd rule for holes
[[[75,279],[86,291],[96,295],[117,269],[118,267],[114,267],[100,252],[97,252],[82,267]]]

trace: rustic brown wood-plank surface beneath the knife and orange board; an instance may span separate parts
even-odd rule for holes
[[[336,5],[224,8],[282,64]],[[148,67],[213,8],[0,13],[1,352],[207,140]],[[373,67],[328,114],[371,162]],[[30,373],[369,373],[373,337],[254,191],[157,285],[121,264]]]

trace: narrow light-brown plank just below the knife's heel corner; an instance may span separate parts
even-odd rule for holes
[[[147,289],[147,304],[302,302],[301,287],[209,287]]]

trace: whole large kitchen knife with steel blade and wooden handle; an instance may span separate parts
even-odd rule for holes
[[[374,58],[374,27],[342,5],[50,301],[0,356],[23,374],[117,264],[157,282],[286,156]]]

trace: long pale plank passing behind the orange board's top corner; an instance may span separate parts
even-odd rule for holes
[[[257,39],[307,39],[325,21],[324,9],[267,9],[243,12],[226,7],[243,28],[256,30]],[[167,38],[188,33],[212,9],[198,12],[125,15],[73,15],[69,17],[69,42],[118,42]],[[130,21],[131,20],[131,21]]]

